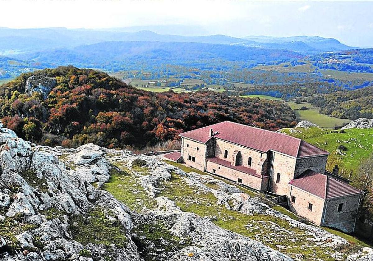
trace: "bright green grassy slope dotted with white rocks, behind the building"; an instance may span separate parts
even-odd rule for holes
[[[338,164],[342,176],[353,178],[361,161],[373,154],[373,129],[347,129],[332,131],[330,129],[293,128],[282,129],[282,132],[304,139],[330,153],[327,161],[327,170],[331,171]],[[346,151],[338,149],[340,145],[347,148]]]

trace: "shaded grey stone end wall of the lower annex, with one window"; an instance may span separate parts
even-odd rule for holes
[[[328,199],[325,206],[323,226],[334,227],[346,233],[354,232],[356,211],[360,194]],[[338,205],[343,203],[342,211],[338,212]]]

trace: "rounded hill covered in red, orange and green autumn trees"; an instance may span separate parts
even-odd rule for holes
[[[25,91],[26,82],[34,91]],[[44,85],[46,95],[37,91]],[[72,66],[22,74],[0,88],[0,104],[4,125],[20,137],[66,146],[143,147],[223,120],[276,130],[296,118],[276,101],[212,91],[154,94]]]

